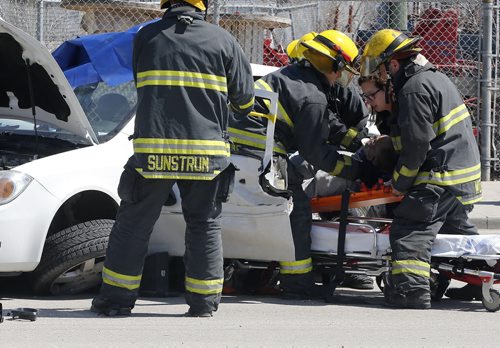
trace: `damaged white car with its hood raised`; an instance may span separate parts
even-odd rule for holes
[[[0,51],[0,276],[32,272],[37,293],[78,293],[100,282],[119,177],[133,152],[134,83],[73,90],[45,46],[1,19]],[[253,69],[260,77],[276,68]],[[247,204],[259,165],[239,165],[240,194],[224,210],[225,256],[293,258],[287,200]],[[271,238],[268,226],[277,231]],[[177,199],[165,207],[150,252],[181,256],[183,234]],[[283,243],[292,248],[277,248]]]

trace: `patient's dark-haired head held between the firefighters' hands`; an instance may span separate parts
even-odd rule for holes
[[[392,140],[387,135],[380,135],[370,139],[364,146],[366,158],[377,168],[386,173],[392,173],[398,155],[392,145]]]

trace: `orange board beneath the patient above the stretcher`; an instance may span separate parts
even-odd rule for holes
[[[361,192],[351,192],[349,208],[371,207],[372,205],[399,202],[403,197],[394,196],[390,187],[381,187]],[[342,195],[311,199],[313,213],[340,211]]]

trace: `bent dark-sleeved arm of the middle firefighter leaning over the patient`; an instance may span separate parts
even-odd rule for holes
[[[334,176],[354,179],[355,161],[337,152],[338,147],[327,142],[328,119],[331,110],[326,104],[304,103],[295,118],[294,135],[299,154],[311,165]]]

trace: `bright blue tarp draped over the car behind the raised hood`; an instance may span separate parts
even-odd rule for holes
[[[132,44],[144,25],[127,31],[82,36],[65,41],[53,53],[71,87],[104,81],[110,86],[131,81]]]

